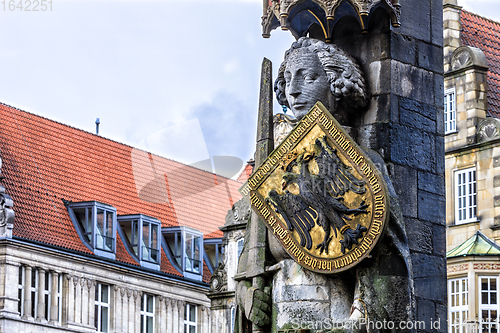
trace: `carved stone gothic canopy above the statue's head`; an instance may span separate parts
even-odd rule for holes
[[[281,26],[296,37],[304,37],[313,25],[319,35],[329,41],[333,26],[344,16],[355,17],[363,32],[374,9],[383,7],[391,17],[391,23],[399,27],[399,0],[264,0],[262,36],[269,38],[271,31]]]

